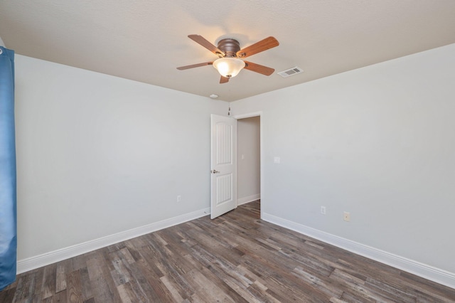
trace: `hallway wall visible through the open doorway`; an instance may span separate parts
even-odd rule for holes
[[[260,120],[259,116],[237,120],[237,203],[260,198]]]

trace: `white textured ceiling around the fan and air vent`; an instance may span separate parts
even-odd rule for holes
[[[217,58],[194,33],[242,48],[274,36],[247,60],[275,73],[219,84],[210,65],[177,70]],[[3,0],[0,37],[21,55],[233,101],[455,43],[455,1]],[[277,75],[294,66],[304,73]]]

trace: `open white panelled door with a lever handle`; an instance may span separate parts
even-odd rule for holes
[[[210,218],[237,207],[237,120],[210,116]]]

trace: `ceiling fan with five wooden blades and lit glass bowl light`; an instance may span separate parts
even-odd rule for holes
[[[247,58],[250,55],[255,55],[256,53],[268,50],[269,48],[279,46],[279,42],[274,37],[265,38],[242,49],[240,49],[240,43],[232,38],[220,40],[220,42],[218,42],[218,47],[214,46],[200,35],[188,35],[188,38],[207,48],[215,55],[218,55],[218,59],[212,62],[181,66],[180,68],[177,68],[178,70],[188,70],[188,68],[213,65],[213,67],[216,68],[218,73],[221,75],[220,83],[228,83],[229,79],[240,73],[242,68],[252,70],[253,72],[260,73],[262,75],[272,75],[275,71],[273,68],[267,68],[267,66],[240,59]]]

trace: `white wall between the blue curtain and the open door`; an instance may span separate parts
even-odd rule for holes
[[[210,206],[210,114],[228,103],[23,55],[15,67],[19,262]]]

